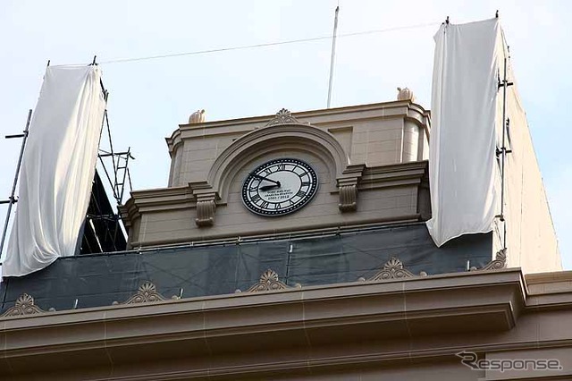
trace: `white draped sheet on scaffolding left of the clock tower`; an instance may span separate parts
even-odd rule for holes
[[[50,66],[29,126],[4,276],[74,254],[88,210],[105,110],[101,72]]]

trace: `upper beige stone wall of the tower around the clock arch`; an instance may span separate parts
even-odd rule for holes
[[[328,131],[351,164],[390,165],[428,157],[429,117],[408,101],[294,114],[301,123]],[[216,157],[232,141],[262,128],[272,115],[231,121],[181,124],[167,139],[172,157],[169,186],[206,181]]]

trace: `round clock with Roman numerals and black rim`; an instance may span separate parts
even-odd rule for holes
[[[314,169],[298,159],[282,158],[258,166],[242,184],[242,202],[262,216],[282,216],[304,207],[318,189]]]

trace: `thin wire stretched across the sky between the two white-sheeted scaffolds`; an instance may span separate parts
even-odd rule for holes
[[[383,30],[365,30],[365,31],[353,32],[353,33],[341,34],[341,35],[338,35],[338,38],[364,36],[364,35],[376,34],[376,33],[386,33],[386,32],[391,32],[391,31],[395,31],[395,30],[412,30],[412,29],[425,28],[425,27],[435,26],[435,25],[440,25],[440,24],[441,24],[441,21],[427,22],[424,24],[408,25],[408,26],[401,26],[401,27],[394,27],[394,28],[387,28],[387,29],[383,29]],[[255,44],[255,45],[243,45],[243,46],[239,46],[239,47],[221,47],[221,48],[217,48],[217,49],[197,50],[194,52],[173,53],[173,54],[169,54],[169,55],[149,55],[149,56],[145,56],[145,57],[121,58],[121,59],[102,61],[99,64],[132,63],[132,62],[138,62],[138,61],[156,60],[156,59],[161,59],[161,58],[180,57],[180,56],[185,56],[185,55],[206,55],[206,54],[210,54],[210,53],[229,52],[232,50],[254,49],[257,47],[275,47],[275,46],[279,46],[279,45],[298,44],[300,42],[320,41],[320,40],[331,39],[331,38],[332,38],[332,36],[290,39],[287,41],[268,42],[268,43],[264,43],[264,44]]]

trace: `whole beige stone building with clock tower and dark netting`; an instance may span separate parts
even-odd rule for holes
[[[508,200],[526,239],[502,250],[497,231],[434,245],[410,99],[191,121],[168,187],[122,207],[129,250],[4,281],[3,379],[572,378],[572,274],[528,131],[531,191]]]

